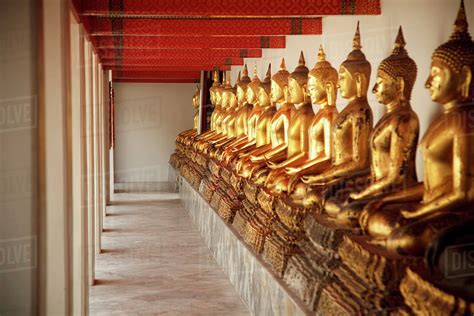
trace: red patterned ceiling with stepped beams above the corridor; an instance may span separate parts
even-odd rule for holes
[[[73,0],[106,69],[121,82],[197,82],[242,65],[285,35],[322,33],[321,16],[380,14],[380,0]]]

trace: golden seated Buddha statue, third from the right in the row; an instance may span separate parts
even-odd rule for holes
[[[353,50],[339,68],[339,91],[349,103],[334,121],[330,168],[301,177],[311,188],[303,199],[306,208],[323,205],[328,185],[347,182],[360,173],[368,173],[368,140],[373,125],[372,110],[367,102],[371,67],[361,48],[357,23]]]

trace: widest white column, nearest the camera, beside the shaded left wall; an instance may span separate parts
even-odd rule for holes
[[[38,314],[71,314],[70,30],[65,0],[41,2]]]

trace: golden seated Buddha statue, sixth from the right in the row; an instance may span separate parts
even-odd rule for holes
[[[271,79],[271,101],[281,104],[271,121],[269,144],[260,146],[251,152],[242,153],[237,164],[237,173],[249,179],[254,172],[265,167],[266,153],[274,153],[274,156],[285,154],[287,146],[287,130],[290,119],[294,114],[294,106],[288,102],[288,77],[290,73],[286,70],[285,59],[282,59],[280,70]],[[277,152],[279,151],[279,152]]]

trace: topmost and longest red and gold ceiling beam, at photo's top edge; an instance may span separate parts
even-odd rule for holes
[[[301,16],[380,14],[380,0],[88,0],[86,14],[145,16]],[[112,10],[110,10],[112,9]]]

